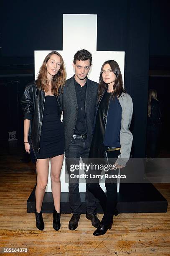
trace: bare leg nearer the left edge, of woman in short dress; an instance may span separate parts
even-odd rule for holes
[[[36,210],[41,211],[43,197],[45,194],[47,182],[48,182],[48,168],[49,168],[49,158],[47,159],[37,159],[37,186],[36,186]]]

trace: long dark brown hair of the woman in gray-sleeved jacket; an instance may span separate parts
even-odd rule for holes
[[[114,60],[108,60],[108,61],[104,62],[104,64],[101,67],[101,71],[100,71],[98,101],[100,101],[101,96],[103,95],[103,92],[105,90],[108,90],[108,84],[104,83],[103,78],[102,78],[102,70],[103,70],[103,67],[105,64],[109,64],[112,69],[112,72],[116,75],[116,79],[115,79],[114,85],[113,85],[113,92],[111,93],[110,97],[112,99],[114,99],[115,96],[120,97],[122,92],[126,93],[126,91],[123,89],[122,74],[121,74],[119,65]]]

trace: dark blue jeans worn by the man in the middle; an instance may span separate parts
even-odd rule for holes
[[[80,157],[88,159],[89,157],[90,144],[88,139],[83,138],[72,138],[69,148],[65,151],[66,156],[66,165],[67,171],[69,173],[69,198],[70,198],[70,207],[71,212],[76,214],[81,214],[81,198],[79,192],[79,179],[74,179],[74,182],[71,182],[70,178],[70,165],[79,164]],[[74,172],[74,174],[79,175],[79,170]],[[96,210],[96,198],[89,191],[86,184],[86,212],[94,212]]]

